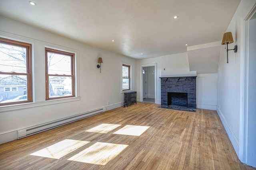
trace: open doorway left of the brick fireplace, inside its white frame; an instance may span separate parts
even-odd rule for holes
[[[155,103],[155,66],[142,67],[143,102]]]

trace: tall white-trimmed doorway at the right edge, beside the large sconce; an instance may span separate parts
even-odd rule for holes
[[[256,8],[245,20],[243,161],[256,167]]]

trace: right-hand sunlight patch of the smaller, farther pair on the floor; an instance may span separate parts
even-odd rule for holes
[[[121,128],[120,130],[114,132],[113,134],[140,136],[149,127],[150,126],[126,125],[125,127]]]

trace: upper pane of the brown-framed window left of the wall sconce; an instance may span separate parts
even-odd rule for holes
[[[71,57],[68,55],[50,53],[48,56],[48,74],[71,75]]]

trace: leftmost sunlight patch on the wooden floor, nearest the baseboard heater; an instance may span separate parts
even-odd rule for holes
[[[37,152],[34,152],[30,155],[60,159],[61,157],[73,152],[74,150],[86,145],[87,143],[90,142],[65,139],[47,148],[38,150]]]

